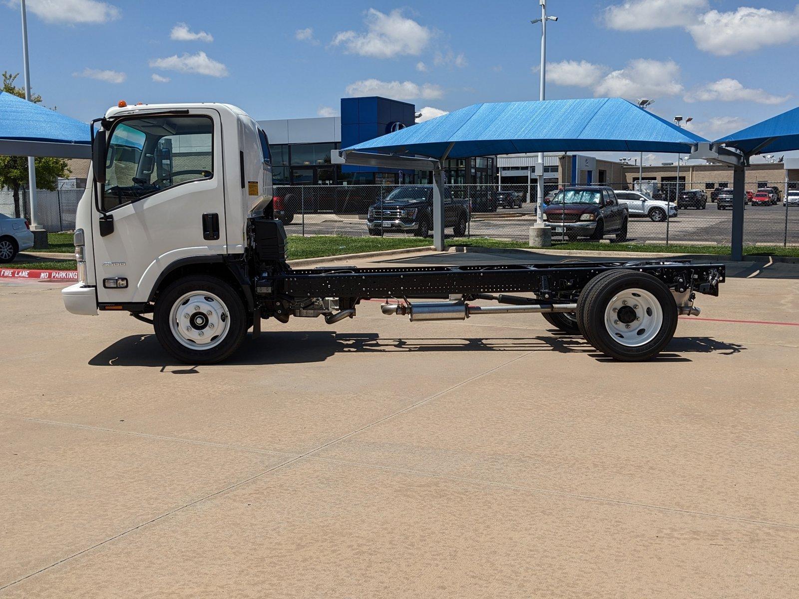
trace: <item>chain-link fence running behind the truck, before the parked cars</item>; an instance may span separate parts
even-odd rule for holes
[[[729,182],[680,181],[603,183],[614,189],[629,215],[626,239],[650,244],[729,245],[732,190]],[[568,185],[547,183],[549,198]],[[71,231],[83,189],[37,192],[38,222],[48,231]],[[799,182],[761,181],[745,186],[744,242],[799,245]],[[643,194],[643,195],[642,195]],[[275,205],[289,235],[418,236],[430,234],[432,188],[429,185],[304,185],[274,188]],[[527,184],[448,184],[447,236],[489,237],[526,242],[535,224],[536,186]],[[23,216],[30,221],[26,190],[20,191]],[[557,207],[561,206],[561,214]],[[570,220],[580,222],[578,205],[551,204],[553,240],[586,240],[569,235]],[[0,191],[0,212],[14,216],[10,191]],[[549,216],[549,214],[548,214]],[[564,223],[563,220],[566,220]],[[565,225],[565,226],[564,226]],[[558,227],[565,230],[559,232]],[[618,228],[604,227],[602,238],[615,240]],[[594,237],[598,235],[594,232]]]

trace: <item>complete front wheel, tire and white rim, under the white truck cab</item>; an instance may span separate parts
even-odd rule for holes
[[[155,335],[170,355],[187,364],[213,364],[233,354],[247,334],[241,296],[214,276],[186,276],[158,296]]]

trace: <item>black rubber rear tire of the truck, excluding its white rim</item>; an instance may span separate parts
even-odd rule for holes
[[[586,286],[578,300],[578,323],[586,341],[604,355],[624,362],[641,362],[658,355],[674,337],[677,328],[677,304],[669,288],[661,280],[645,272],[618,269],[594,277],[589,285],[590,288]],[[605,323],[606,308],[611,300],[632,288],[649,292],[662,311],[662,322],[654,337],[639,346],[620,343]],[[621,310],[619,314],[620,312]]]

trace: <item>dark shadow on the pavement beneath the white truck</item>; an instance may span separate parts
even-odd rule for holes
[[[692,353],[733,355],[746,348],[711,337],[678,337],[654,362],[691,362]],[[520,337],[387,337],[378,333],[337,333],[336,331],[266,331],[244,345],[221,366],[314,363],[336,354],[388,353],[416,351],[554,351],[560,354],[587,354],[613,361],[599,354],[578,335],[561,331]],[[106,347],[89,360],[89,366],[183,367],[167,355],[155,335],[129,335]],[[170,370],[174,374],[193,374],[196,367]]]

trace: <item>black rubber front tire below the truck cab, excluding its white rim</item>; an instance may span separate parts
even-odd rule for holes
[[[227,312],[222,311],[221,307],[220,311],[225,315],[221,321],[228,320],[228,329],[221,342],[209,349],[186,347],[177,339],[171,326],[173,305],[181,299],[181,296],[193,292],[197,292],[197,295],[201,295],[202,292],[213,294],[227,307]],[[153,313],[153,324],[158,342],[173,358],[187,364],[213,364],[228,358],[241,345],[247,334],[248,316],[241,296],[225,281],[215,276],[185,276],[173,281],[159,292]]]

